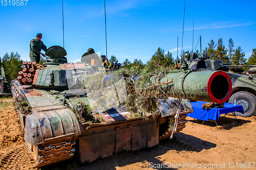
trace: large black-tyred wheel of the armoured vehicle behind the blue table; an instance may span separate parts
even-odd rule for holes
[[[228,103],[234,103],[234,100],[237,101],[238,105],[242,105],[244,109],[244,114],[236,112],[236,116],[250,117],[256,112],[256,96],[250,92],[239,91],[231,95],[228,100]]]

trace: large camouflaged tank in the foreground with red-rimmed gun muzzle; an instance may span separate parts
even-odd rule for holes
[[[105,109],[95,104],[89,91],[83,89],[83,78],[93,77],[96,72],[108,73],[100,80],[100,90],[113,85],[107,83],[113,69],[106,65],[105,56],[98,56],[89,48],[81,61],[68,63],[67,52],[60,46],[49,47],[46,55],[50,59],[44,65],[25,62],[19,80],[12,81],[25,145],[34,156],[35,167],[69,159],[75,153],[79,153],[80,164],[86,164],[113,154],[153,147],[159,140],[181,131],[186,113],[193,112],[188,102],[182,100],[177,104],[174,98],[222,103],[231,93],[231,81],[224,71],[172,70],[161,78],[160,84],[153,79],[151,83],[165,91],[162,95],[174,98],[161,101],[157,113],[146,113],[145,119],[141,112],[132,113],[116,104]],[[123,90],[125,86],[114,84],[116,97],[112,100],[123,100]],[[96,111],[89,110],[90,106],[96,106]]]

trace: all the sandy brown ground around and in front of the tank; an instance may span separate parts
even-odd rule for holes
[[[31,169],[23,131],[11,101],[0,100],[0,168]],[[187,117],[173,139],[135,152],[79,166],[79,155],[38,169],[256,169],[256,117],[220,118],[218,125]],[[201,168],[200,168],[201,167]]]

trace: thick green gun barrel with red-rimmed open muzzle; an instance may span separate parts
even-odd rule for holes
[[[108,86],[106,81],[110,75],[102,78],[102,86]],[[231,95],[232,82],[224,71],[171,70],[156,81],[151,78],[151,87],[161,88],[161,96],[171,96],[179,99],[224,103]],[[151,88],[150,87],[150,88]],[[154,95],[152,93],[152,95]]]

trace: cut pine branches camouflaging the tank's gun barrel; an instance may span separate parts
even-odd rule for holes
[[[160,82],[163,77],[167,79],[166,73],[169,70],[172,70],[172,67],[163,67],[151,61],[144,68],[134,66],[130,70],[122,68],[107,73],[96,72],[94,75],[84,76],[82,83],[88,96],[94,101],[92,110],[100,112],[113,106],[125,106],[128,111],[147,118],[150,113],[153,116],[159,114],[160,100],[169,97],[165,90],[160,88],[161,85],[172,82]],[[101,79],[106,74],[109,75],[108,87],[102,88]],[[125,88],[123,90],[120,87]]]

